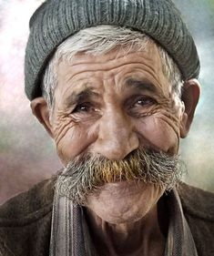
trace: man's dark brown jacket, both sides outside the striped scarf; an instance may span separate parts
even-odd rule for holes
[[[213,256],[214,194],[184,183],[178,193],[199,256]],[[48,256],[53,196],[49,179],[0,207],[0,256]]]

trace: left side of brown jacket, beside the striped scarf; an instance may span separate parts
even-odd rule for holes
[[[40,182],[0,207],[0,255],[48,256],[54,180]]]

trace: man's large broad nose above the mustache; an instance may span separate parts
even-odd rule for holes
[[[124,159],[139,146],[130,117],[123,111],[106,113],[100,118],[94,153],[107,159]]]

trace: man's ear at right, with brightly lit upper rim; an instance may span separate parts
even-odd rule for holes
[[[180,125],[180,138],[185,138],[189,133],[195,109],[199,101],[200,85],[197,79],[190,79],[184,83],[181,99],[185,111]]]

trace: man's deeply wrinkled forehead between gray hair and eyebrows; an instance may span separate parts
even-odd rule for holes
[[[123,47],[96,56],[78,53],[71,60],[62,59],[56,73],[56,94],[58,92],[61,96],[83,88],[98,89],[104,84],[121,89],[130,84],[127,81],[132,81],[131,84],[137,88],[143,84],[147,89],[150,86],[155,88],[153,91],[164,95],[171,91],[155,44],[149,44],[142,51],[132,48],[127,52],[126,47]]]

